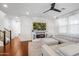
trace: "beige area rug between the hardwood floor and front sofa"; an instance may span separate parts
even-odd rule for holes
[[[29,42],[28,44],[28,55],[29,56],[42,56],[41,42]]]

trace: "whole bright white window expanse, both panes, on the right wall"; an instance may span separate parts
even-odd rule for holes
[[[74,14],[56,21],[59,33],[79,34],[79,14]]]

